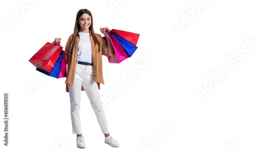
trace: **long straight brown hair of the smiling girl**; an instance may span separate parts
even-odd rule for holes
[[[75,46],[75,37],[77,36],[78,32],[80,31],[80,25],[78,24],[79,23],[78,19],[84,13],[87,13],[88,15],[91,16],[91,26],[89,27],[89,30],[92,31],[92,37],[93,37],[94,44],[96,44],[96,45],[99,44],[98,38],[97,38],[97,36],[94,32],[94,29],[93,29],[92,13],[88,9],[80,9],[76,14],[76,23],[75,23],[75,28],[74,28],[73,40],[72,40],[72,44],[71,44],[71,53],[73,52],[73,49],[74,49],[74,46]]]

